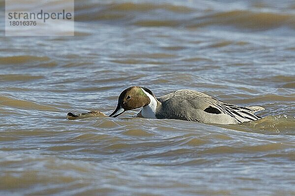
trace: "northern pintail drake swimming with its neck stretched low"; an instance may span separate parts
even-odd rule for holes
[[[264,110],[260,106],[242,107],[225,103],[204,93],[178,90],[156,98],[145,87],[132,86],[118,98],[116,110],[110,117],[118,117],[127,110],[141,108],[140,117],[150,119],[178,119],[199,123],[237,124],[261,119],[254,113]]]

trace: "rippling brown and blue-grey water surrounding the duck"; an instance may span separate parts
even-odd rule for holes
[[[75,19],[75,37],[0,29],[0,195],[295,195],[295,2],[77,0]],[[132,85],[265,118],[66,119]]]

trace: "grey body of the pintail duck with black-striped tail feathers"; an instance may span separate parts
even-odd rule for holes
[[[162,103],[157,118],[231,124],[258,120],[253,113],[264,108],[240,107],[192,90],[178,90],[158,98]]]

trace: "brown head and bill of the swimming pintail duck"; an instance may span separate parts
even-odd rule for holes
[[[133,110],[147,106],[150,103],[150,99],[143,90],[153,96],[152,92],[145,87],[132,86],[125,89],[120,94],[117,108],[110,115],[110,117],[118,117],[127,110]]]

